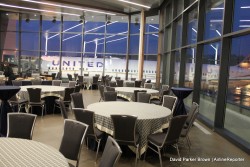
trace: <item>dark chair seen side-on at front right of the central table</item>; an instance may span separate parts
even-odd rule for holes
[[[180,115],[173,117],[170,120],[169,127],[166,133],[164,132],[154,133],[150,134],[147,137],[148,139],[147,148],[150,148],[159,155],[161,167],[162,167],[161,150],[164,146],[173,145],[177,150],[178,156],[180,157],[178,142],[186,119],[187,115]],[[147,150],[144,153],[144,159],[146,157],[146,153]]]

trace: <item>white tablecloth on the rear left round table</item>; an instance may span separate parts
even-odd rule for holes
[[[18,92],[18,96],[21,99],[28,99],[28,91],[27,88],[40,88],[41,90],[41,97],[46,96],[56,96],[62,98],[64,96],[65,87],[61,86],[50,86],[50,85],[28,85],[28,86],[21,86],[21,90]]]

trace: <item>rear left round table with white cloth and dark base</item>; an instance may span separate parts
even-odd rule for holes
[[[40,88],[41,98],[45,99],[47,113],[52,113],[54,109],[55,98],[62,98],[64,96],[65,87],[62,86],[49,86],[49,85],[29,85],[21,86],[18,93],[20,99],[29,100],[27,88]]]

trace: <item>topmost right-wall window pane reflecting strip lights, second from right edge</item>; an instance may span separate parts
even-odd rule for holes
[[[222,35],[223,12],[224,0],[206,1],[205,39]]]

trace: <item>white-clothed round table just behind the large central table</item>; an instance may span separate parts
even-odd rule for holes
[[[136,88],[136,87],[116,87],[115,91],[117,92],[117,96],[127,99],[128,101],[134,101],[134,91],[135,90],[145,90],[147,93],[151,94],[151,98],[154,96],[158,97],[159,91],[154,89],[146,89],[146,88]]]

